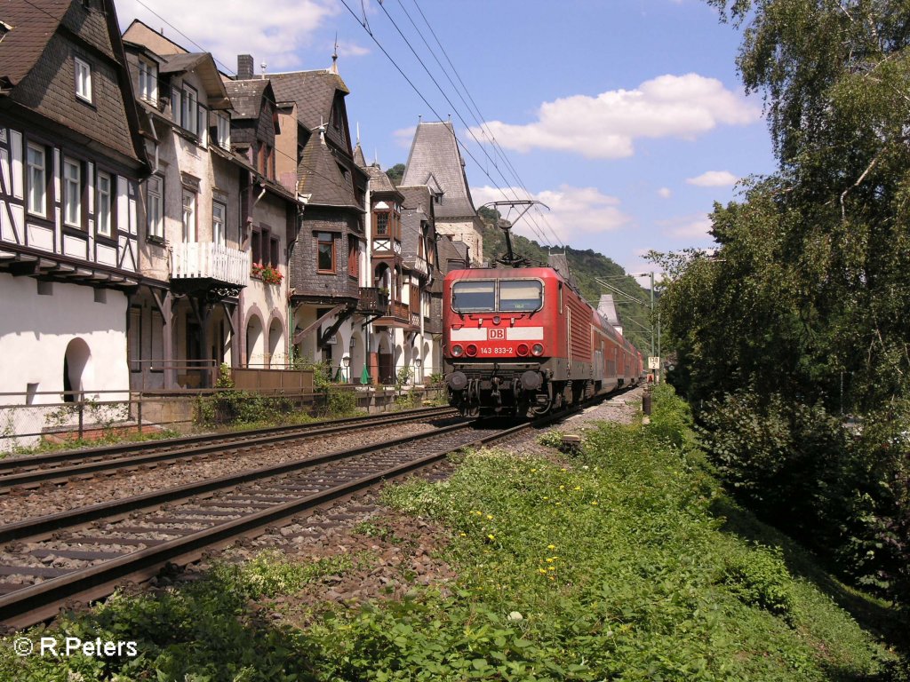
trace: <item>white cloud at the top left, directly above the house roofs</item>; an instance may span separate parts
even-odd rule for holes
[[[230,73],[237,70],[237,55],[253,55],[257,72],[263,62],[270,71],[298,68],[295,52],[309,45],[323,22],[340,11],[330,0],[272,0],[268,11],[251,11],[251,6],[223,0],[156,0],[153,14],[139,0],[116,0],[122,27],[140,19],[191,52],[212,53],[219,67]],[[331,64],[330,45],[325,62],[327,67]]]

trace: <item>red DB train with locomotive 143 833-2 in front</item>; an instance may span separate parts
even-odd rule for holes
[[[642,380],[641,354],[552,267],[454,270],[443,363],[464,415],[544,415]]]

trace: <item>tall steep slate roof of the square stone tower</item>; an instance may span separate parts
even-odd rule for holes
[[[468,178],[450,122],[421,123],[410,146],[402,185],[439,186],[442,202],[436,205],[436,217],[474,216]]]

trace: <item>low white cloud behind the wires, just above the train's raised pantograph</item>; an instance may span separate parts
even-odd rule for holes
[[[544,190],[530,196],[524,190],[510,188],[504,191],[503,196],[503,192],[495,187],[483,186],[471,187],[470,194],[474,199],[474,206],[515,196],[537,199],[549,206],[549,211],[542,207],[540,211],[532,209],[529,217],[522,218],[515,225],[516,234],[534,239],[538,243],[541,239],[550,244],[554,243],[556,238],[552,233],[555,232],[561,243],[572,245],[576,244],[581,236],[591,237],[611,232],[632,223],[632,217],[622,213],[618,198],[604,195],[595,187],[562,185],[558,189]],[[508,210],[501,208],[500,212],[508,218]],[[513,212],[512,216],[514,215]],[[535,233],[535,228],[542,237]],[[603,252],[604,248],[597,250]]]

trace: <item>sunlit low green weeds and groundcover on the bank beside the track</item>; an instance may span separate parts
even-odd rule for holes
[[[117,597],[57,633],[135,639],[139,657],[4,647],[0,678],[898,679],[893,656],[834,605],[844,587],[726,498],[689,418],[658,386],[649,426],[603,425],[565,464],[483,451],[444,482],[387,488],[389,503],[450,527],[451,594],[415,586],[402,601],[327,605],[295,627],[271,614],[360,559],[261,555],[156,597]],[[356,531],[389,534],[372,521]],[[852,598],[854,613],[882,610]]]

